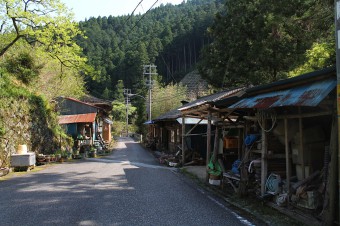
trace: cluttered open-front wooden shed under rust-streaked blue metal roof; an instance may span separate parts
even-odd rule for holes
[[[335,88],[335,69],[328,68],[246,89],[232,105],[228,99],[216,102],[241,115],[243,125],[239,159],[223,173],[227,184],[319,218],[331,213],[334,222],[339,212]]]

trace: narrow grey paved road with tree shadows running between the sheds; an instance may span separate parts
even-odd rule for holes
[[[0,182],[0,225],[252,225],[129,138]]]

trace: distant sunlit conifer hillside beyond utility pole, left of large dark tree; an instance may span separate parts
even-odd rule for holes
[[[87,78],[90,92],[112,94],[118,80],[133,88],[141,80],[145,64],[156,64],[163,81],[179,81],[198,62],[202,47],[211,42],[206,31],[222,2],[189,0],[177,6],[162,5],[143,15],[80,22],[88,38],[80,38],[78,44],[97,70],[94,81]]]

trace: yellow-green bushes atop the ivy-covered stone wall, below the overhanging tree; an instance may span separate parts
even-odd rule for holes
[[[64,67],[61,71],[57,59],[22,40],[0,59],[0,67],[23,81],[23,89],[43,94],[49,101],[58,96],[80,98],[85,94],[85,82],[79,70]]]

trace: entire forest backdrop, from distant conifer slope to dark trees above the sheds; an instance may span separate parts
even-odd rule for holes
[[[118,80],[136,87],[142,65],[163,82],[198,68],[217,88],[256,85],[334,63],[333,2],[187,0],[142,15],[80,22],[78,44],[95,70],[87,88],[112,97]],[[108,95],[109,94],[109,95]]]

